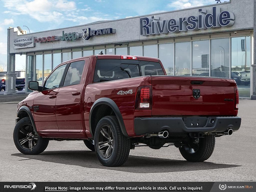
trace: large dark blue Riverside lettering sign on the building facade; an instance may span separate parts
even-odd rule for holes
[[[207,13],[203,8],[198,9],[198,16],[188,16],[160,20],[156,16],[140,18],[140,35],[168,34],[186,32],[187,30],[200,30],[207,28],[230,27],[234,24],[234,14],[229,11],[220,12],[219,7],[212,7],[212,13]]]

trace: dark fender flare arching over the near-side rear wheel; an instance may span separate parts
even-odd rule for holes
[[[125,128],[125,125],[124,125],[124,119],[122,117],[122,114],[121,114],[118,106],[116,105],[116,103],[110,98],[100,98],[100,99],[96,100],[94,102],[94,104],[92,105],[91,109],[90,109],[89,125],[90,125],[90,133],[92,134],[92,136],[94,136],[94,134],[92,133],[92,114],[93,114],[93,111],[95,110],[95,108],[99,105],[102,105],[102,104],[108,105],[110,108],[112,108],[112,110],[114,111],[114,113],[116,115],[118,123],[120,125],[122,134],[124,134],[125,137],[129,137],[127,132],[126,132],[126,128]]]

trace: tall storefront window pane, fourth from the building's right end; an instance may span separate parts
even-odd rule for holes
[[[175,43],[175,75],[190,75],[190,42]]]

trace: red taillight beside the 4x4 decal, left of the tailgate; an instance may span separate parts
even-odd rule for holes
[[[152,109],[151,86],[140,86],[136,92],[136,109]]]

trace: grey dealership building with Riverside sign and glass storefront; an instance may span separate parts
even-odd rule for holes
[[[35,33],[9,28],[6,94],[16,93],[16,54],[26,55],[26,83],[42,83],[61,62],[102,52],[159,58],[172,76],[234,78],[240,98],[253,99],[254,2],[222,1]]]

